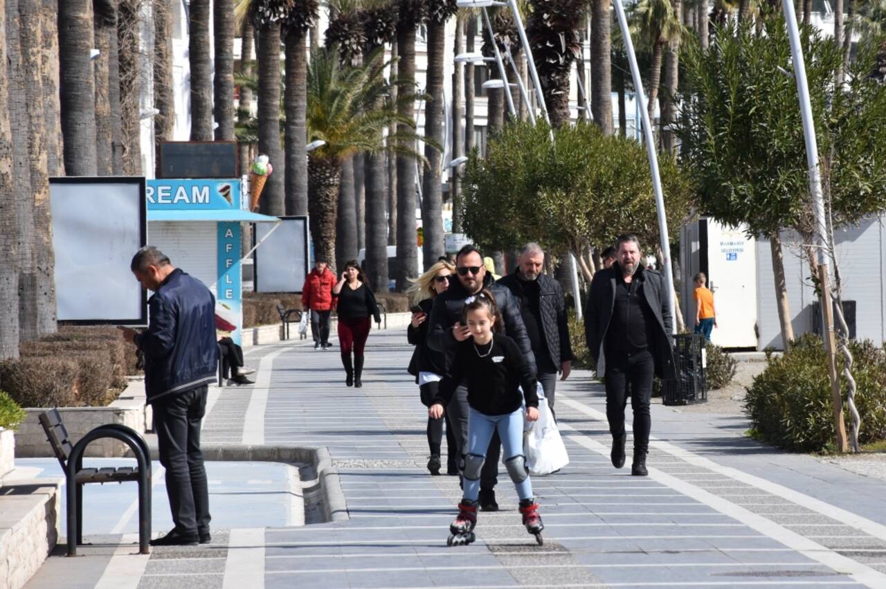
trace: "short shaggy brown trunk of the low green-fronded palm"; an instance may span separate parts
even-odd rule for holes
[[[262,31],[263,35],[264,31]],[[336,259],[335,226],[338,214],[341,164],[334,159],[309,159],[310,164],[307,167],[307,203],[308,213],[310,214],[311,238],[314,240],[314,255],[317,259],[331,262]],[[267,190],[267,187],[265,190]]]

